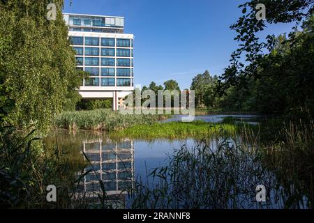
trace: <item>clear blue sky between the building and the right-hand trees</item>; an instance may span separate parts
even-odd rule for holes
[[[209,70],[221,75],[237,49],[230,24],[241,16],[242,0],[70,0],[63,12],[123,16],[124,33],[133,33],[135,84],[175,79],[181,89]],[[284,33],[277,24],[267,33]]]

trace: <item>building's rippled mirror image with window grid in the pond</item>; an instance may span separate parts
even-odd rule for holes
[[[80,185],[86,197],[91,203],[100,203],[98,194],[102,194],[102,190],[99,180],[102,180],[109,199],[107,201],[123,204],[127,190],[133,188],[135,179],[133,140],[89,140],[84,141],[82,147],[91,162],[91,166],[85,168],[85,171],[91,172],[84,176]]]

